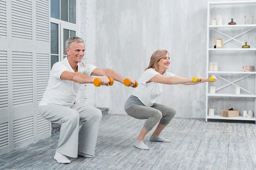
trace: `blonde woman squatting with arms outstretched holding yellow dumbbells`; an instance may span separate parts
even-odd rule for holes
[[[138,149],[149,150],[149,147],[143,142],[144,137],[159,121],[155,131],[150,136],[150,141],[170,142],[159,135],[172,120],[176,111],[172,107],[155,103],[162,92],[163,84],[193,85],[210,82],[209,79],[202,79],[198,75],[195,76],[197,81],[194,82],[191,77],[179,77],[166,72],[169,65],[169,53],[166,50],[156,50],[150,58],[150,64],[138,80],[138,87],[125,102],[125,111],[128,115],[137,119],[147,119],[134,143]],[[211,77],[216,81],[214,75]]]

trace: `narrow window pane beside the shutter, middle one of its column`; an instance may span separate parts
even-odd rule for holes
[[[51,54],[59,54],[59,29],[58,24],[51,23]]]

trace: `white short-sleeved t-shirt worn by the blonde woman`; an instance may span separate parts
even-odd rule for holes
[[[152,68],[147,69],[144,73],[142,73],[138,80],[138,86],[132,93],[132,95],[138,97],[145,106],[152,106],[163,91],[163,84],[161,83],[146,83],[156,74],[160,73]],[[173,77],[175,74],[165,72],[163,76]]]

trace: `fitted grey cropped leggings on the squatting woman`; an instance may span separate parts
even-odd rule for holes
[[[132,105],[125,111],[128,115],[134,118],[147,119],[144,124],[147,131],[152,130],[159,120],[161,125],[168,125],[176,113],[176,110],[174,110],[172,107],[159,103],[154,103],[154,105],[151,107]]]

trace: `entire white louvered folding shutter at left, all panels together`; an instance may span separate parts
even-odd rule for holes
[[[0,155],[51,136],[37,112],[50,65],[50,0],[0,0]]]

